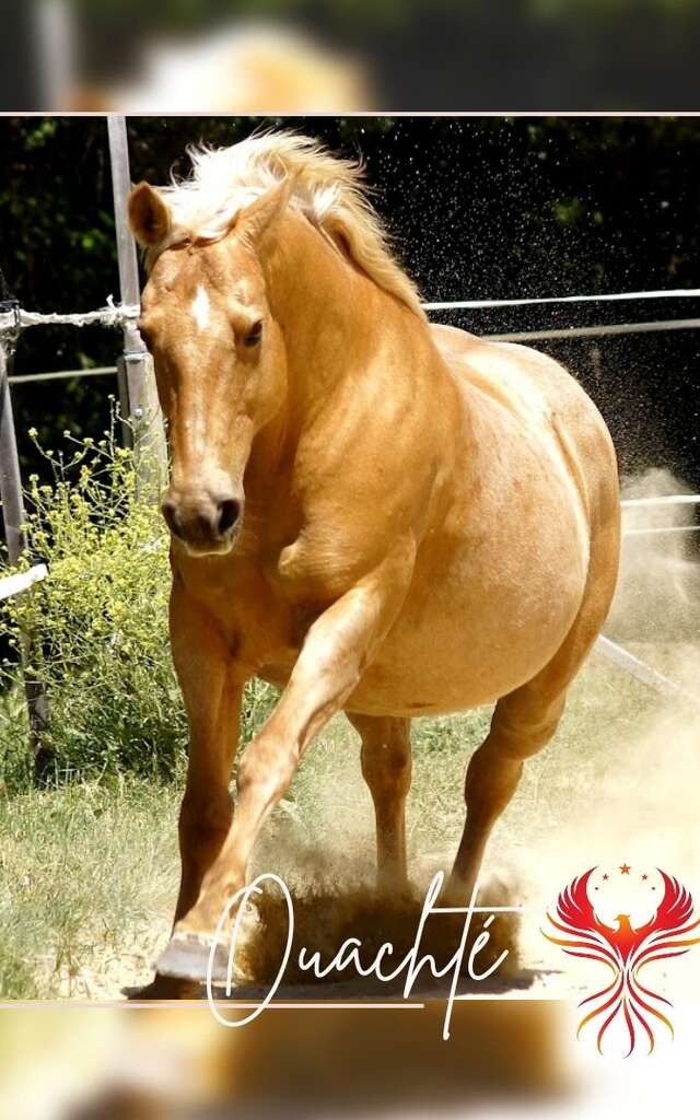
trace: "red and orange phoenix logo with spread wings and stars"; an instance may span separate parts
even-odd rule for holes
[[[579,1004],[579,1007],[590,1005],[590,1010],[579,1023],[577,1037],[588,1023],[603,1017],[597,1037],[597,1048],[601,1054],[605,1034],[622,1014],[629,1038],[629,1049],[625,1057],[629,1057],[635,1047],[635,1025],[637,1029],[638,1026],[644,1029],[651,1054],[654,1049],[654,1019],[665,1024],[673,1036],[673,1026],[661,1010],[661,1006],[672,1005],[664,996],[645,988],[640,981],[640,972],[652,961],[681,956],[691,945],[698,944],[700,936],[687,935],[698,928],[700,918],[696,918],[692,896],[685,887],[672,875],[657,868],[664,892],[654,916],[635,930],[629,923],[628,914],[618,914],[617,928],[614,930],[599,921],[588,897],[588,880],[596,870],[596,867],[591,867],[561,892],[557,902],[557,918],[549,913],[547,915],[554,928],[564,936],[552,936],[544,930],[542,933],[548,941],[561,945],[564,953],[600,961],[613,972],[613,980],[607,987]],[[629,868],[624,865],[620,870],[627,874]]]

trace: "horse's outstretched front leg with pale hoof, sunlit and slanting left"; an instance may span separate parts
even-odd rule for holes
[[[310,627],[277,708],[242,756],[228,836],[204,877],[197,903],[177,923],[159,971],[206,978],[212,935],[245,883],[255,838],[308,744],[343,707],[386,636],[410,582],[413,552],[412,542],[402,542]],[[220,959],[223,969],[226,954],[217,954]]]

